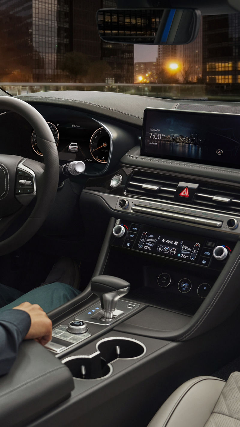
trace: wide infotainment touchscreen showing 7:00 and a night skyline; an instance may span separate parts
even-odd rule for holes
[[[140,155],[240,168],[240,114],[146,108]]]

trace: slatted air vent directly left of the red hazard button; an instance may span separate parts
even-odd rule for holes
[[[136,171],[130,175],[125,193],[129,196],[172,202],[178,183],[178,178]]]

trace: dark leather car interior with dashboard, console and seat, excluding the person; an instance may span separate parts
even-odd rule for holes
[[[239,114],[237,101],[0,93],[1,282],[28,292],[60,257],[81,273],[81,294],[48,313],[52,340],[24,341],[0,378],[2,426],[240,425],[239,396],[228,407],[240,386]]]

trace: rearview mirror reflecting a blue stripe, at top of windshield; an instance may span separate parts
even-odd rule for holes
[[[100,9],[98,32],[107,43],[187,44],[200,29],[197,9]]]

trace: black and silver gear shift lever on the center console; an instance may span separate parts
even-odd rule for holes
[[[95,276],[91,281],[91,291],[98,295],[104,320],[113,319],[119,298],[130,290],[130,283],[114,276]]]

